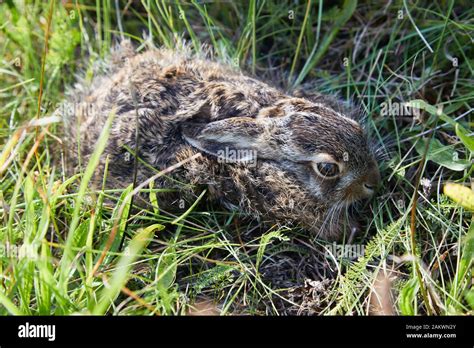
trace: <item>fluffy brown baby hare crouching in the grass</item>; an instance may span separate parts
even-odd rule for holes
[[[160,208],[191,204],[206,188],[208,199],[270,225],[340,237],[347,208],[380,182],[360,124],[331,98],[285,94],[207,56],[185,45],[135,54],[123,43],[62,109],[69,168],[87,163],[114,111],[97,182],[107,157],[106,186],[115,188],[200,153],[155,181],[179,188],[158,194]]]

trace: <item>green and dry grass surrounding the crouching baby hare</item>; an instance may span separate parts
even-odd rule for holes
[[[468,1],[26,3],[0,2],[1,314],[189,314],[210,299],[221,314],[365,315],[374,296],[391,296],[397,314],[473,313],[472,213],[443,194],[472,182]],[[345,240],[364,255],[330,255],[331,244],[204,203],[205,192],[183,216],[161,212],[151,185],[149,210],[131,209],[131,187],[108,204],[112,190],[88,185],[107,129],[67,177],[52,112],[121,36],[142,48],[209,43],[282,88],[359,105],[389,153],[362,233]],[[419,119],[385,113],[389,100],[419,106]]]

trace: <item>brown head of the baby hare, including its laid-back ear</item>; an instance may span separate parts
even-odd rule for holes
[[[249,182],[257,185],[263,168],[277,168],[275,175],[290,181],[276,180],[270,189],[279,195],[297,187],[299,194],[292,199],[296,204],[304,201],[299,215],[310,213],[305,209],[318,209],[322,214],[311,212],[310,216],[323,219],[324,211],[370,197],[380,182],[377,163],[359,123],[326,104],[288,98],[252,117],[188,125],[183,127],[183,135],[191,146],[221,162],[248,166],[249,175],[255,176]],[[292,189],[277,187],[281,182],[290,182]]]

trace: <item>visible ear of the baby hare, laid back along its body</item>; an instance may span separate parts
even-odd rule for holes
[[[257,156],[277,156],[277,149],[268,141],[272,128],[266,120],[233,117],[205,125],[186,123],[181,131],[184,139],[200,151],[224,161],[248,162]]]

